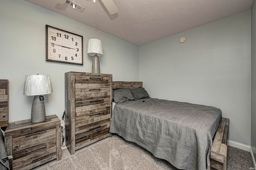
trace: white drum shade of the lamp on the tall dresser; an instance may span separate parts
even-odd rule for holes
[[[90,56],[98,55],[98,57],[103,56],[102,42],[99,39],[89,39],[87,54]]]

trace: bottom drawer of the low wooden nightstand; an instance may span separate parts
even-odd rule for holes
[[[56,140],[15,152],[13,154],[13,169],[20,169],[47,159],[56,159]]]

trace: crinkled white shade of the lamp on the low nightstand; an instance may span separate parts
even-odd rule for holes
[[[37,96],[52,93],[52,83],[49,75],[26,75],[23,95]]]

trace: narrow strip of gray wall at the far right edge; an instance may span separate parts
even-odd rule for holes
[[[251,118],[251,147],[256,162],[256,3],[252,4],[251,10],[252,31],[252,118]]]

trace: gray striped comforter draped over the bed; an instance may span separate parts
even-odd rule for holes
[[[221,117],[215,107],[147,98],[116,104],[110,132],[176,168],[205,170]]]

